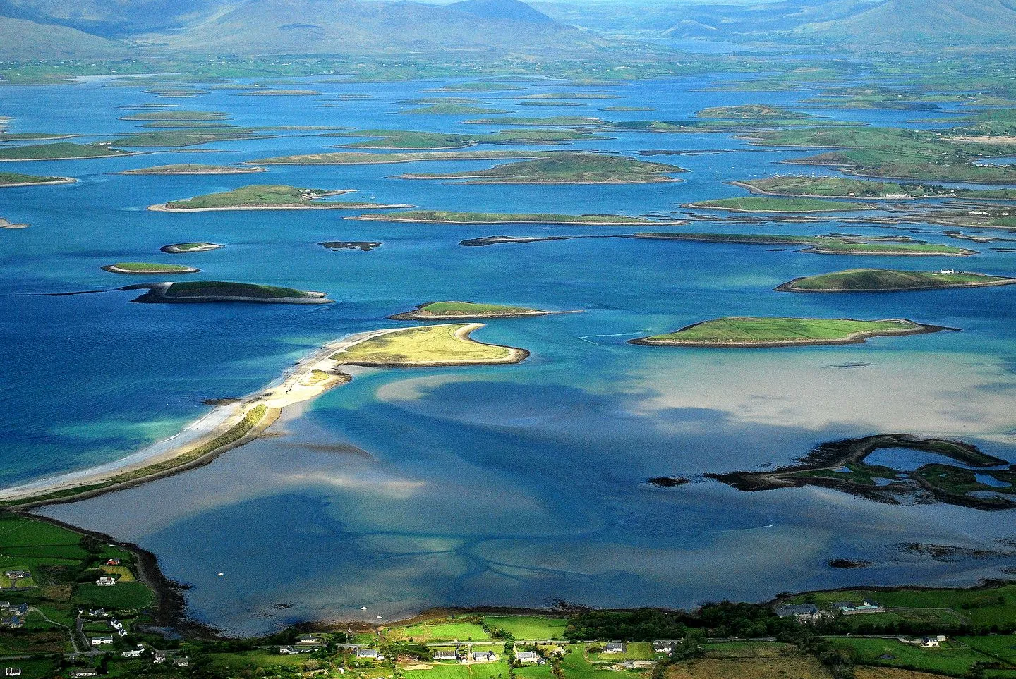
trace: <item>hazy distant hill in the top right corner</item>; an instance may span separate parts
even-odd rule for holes
[[[1016,38],[1014,0],[885,0],[837,21],[810,23],[797,35],[859,45],[983,45]]]

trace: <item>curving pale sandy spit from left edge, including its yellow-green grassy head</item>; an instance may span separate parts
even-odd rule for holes
[[[174,283],[174,285],[187,285]],[[132,289],[140,286],[131,286]],[[274,288],[283,289],[283,288]],[[524,349],[469,338],[481,323],[391,328],[329,342],[300,360],[281,381],[239,401],[227,400],[175,436],[123,460],[83,472],[0,490],[0,506],[25,510],[119,490],[211,462],[257,438],[284,411],[317,398],[351,376],[341,364],[379,367],[517,363]]]

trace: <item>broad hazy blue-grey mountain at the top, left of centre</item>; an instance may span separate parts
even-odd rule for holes
[[[147,39],[178,50],[237,55],[575,53],[605,43],[518,0],[466,0],[458,7],[383,0],[246,0],[179,32]]]

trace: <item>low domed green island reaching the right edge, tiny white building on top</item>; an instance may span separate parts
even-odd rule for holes
[[[849,269],[817,276],[801,276],[775,289],[784,292],[891,292],[937,290],[948,287],[988,287],[1013,283],[1016,283],[1016,278],[966,271]]]

